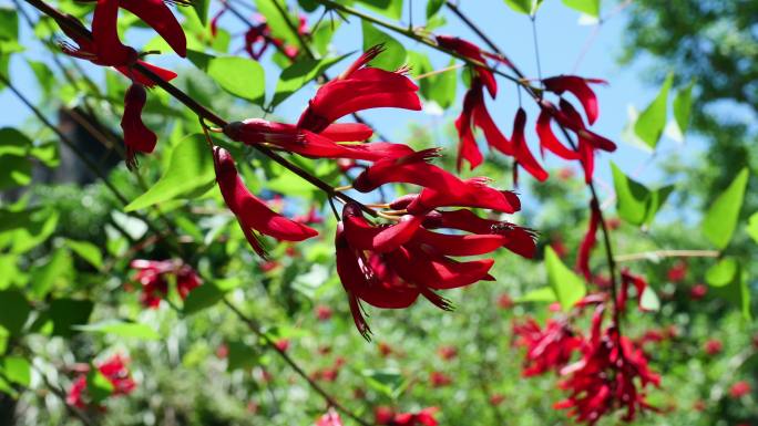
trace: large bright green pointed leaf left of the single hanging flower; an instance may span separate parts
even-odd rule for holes
[[[133,211],[172,199],[197,197],[211,189],[214,176],[213,155],[205,136],[187,136],[172,150],[168,167],[161,179],[124,210]]]

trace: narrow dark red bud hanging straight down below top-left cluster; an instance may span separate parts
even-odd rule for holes
[[[124,96],[124,115],[121,117],[121,128],[124,132],[124,145],[126,145],[126,166],[130,169],[136,166],[135,154],[137,152],[150,154],[157,143],[155,133],[142,122],[142,108],[146,102],[145,87],[133,83]]]

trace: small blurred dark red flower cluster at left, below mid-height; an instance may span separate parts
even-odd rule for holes
[[[132,260],[130,267],[136,270],[134,281],[141,284],[140,302],[155,309],[168,294],[168,282],[176,283],[176,291],[185,299],[190,291],[203,283],[194,269],[178,260]]]

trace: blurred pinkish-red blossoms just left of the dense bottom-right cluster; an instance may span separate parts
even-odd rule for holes
[[[549,371],[559,371],[568,362],[574,351],[583,346],[581,334],[575,334],[565,320],[547,320],[544,329],[534,319],[513,324],[515,345],[526,349],[522,375],[535,376]]]

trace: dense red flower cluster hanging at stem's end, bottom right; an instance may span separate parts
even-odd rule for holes
[[[570,416],[588,425],[614,409],[625,409],[624,422],[634,420],[643,409],[654,409],[646,401],[645,387],[660,383],[641,349],[613,326],[601,330],[602,312],[601,305],[582,360],[561,371],[567,376],[561,387],[570,395],[555,404],[555,408],[568,409]]]

